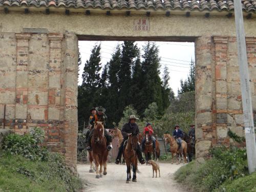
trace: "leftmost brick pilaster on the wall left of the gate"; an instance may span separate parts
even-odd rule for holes
[[[26,132],[26,119],[28,111],[28,53],[30,33],[17,33],[17,65],[16,65],[16,122],[25,123],[15,125],[15,132]],[[25,122],[24,122],[25,121]]]

